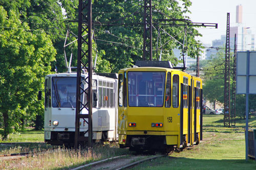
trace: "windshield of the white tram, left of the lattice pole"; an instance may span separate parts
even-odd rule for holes
[[[52,78],[52,107],[76,107],[76,77]]]

